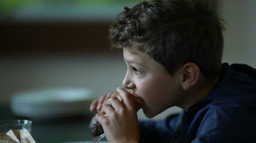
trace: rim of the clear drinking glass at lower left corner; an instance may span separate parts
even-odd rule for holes
[[[0,120],[0,126],[23,126],[32,125],[32,120],[17,119],[17,120]]]

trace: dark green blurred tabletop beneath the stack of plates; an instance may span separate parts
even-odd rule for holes
[[[37,143],[91,141],[89,123],[95,113],[52,120],[32,120],[31,135]],[[0,106],[0,120],[26,119],[11,113],[10,107]],[[103,139],[106,141],[106,138]]]

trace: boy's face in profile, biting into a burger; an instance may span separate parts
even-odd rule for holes
[[[142,108],[147,117],[154,117],[182,101],[179,74],[171,76],[164,66],[136,48],[124,48],[124,60],[127,74],[123,86],[144,100]]]

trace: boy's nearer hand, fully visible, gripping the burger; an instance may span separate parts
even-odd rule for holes
[[[118,88],[117,91],[124,102],[116,97],[105,100],[101,113],[95,119],[103,126],[109,142],[138,142],[138,118],[134,101],[125,89]]]

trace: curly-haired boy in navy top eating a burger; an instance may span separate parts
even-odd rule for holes
[[[256,142],[256,70],[222,64],[221,24],[211,1],[164,0],[125,8],[110,27],[122,48],[127,74],[122,85],[143,101],[152,118],[177,106],[182,113],[158,122],[137,121],[124,88],[124,104],[107,96],[91,111],[109,142]],[[108,116],[103,116],[107,114]]]

